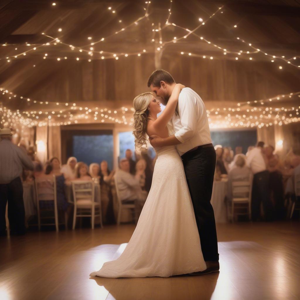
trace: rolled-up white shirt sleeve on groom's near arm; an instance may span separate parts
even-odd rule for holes
[[[175,133],[181,143],[192,138],[196,133],[196,101],[192,95],[181,92],[178,99],[178,110],[182,128]]]

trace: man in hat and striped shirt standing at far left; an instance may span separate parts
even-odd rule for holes
[[[31,159],[11,142],[9,128],[0,130],[0,235],[5,235],[5,210],[8,202],[8,220],[11,233],[26,233],[22,169],[33,170]]]

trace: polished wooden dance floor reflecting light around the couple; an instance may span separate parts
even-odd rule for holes
[[[220,273],[89,277],[134,225],[0,238],[0,299],[299,299],[300,223],[218,224]]]

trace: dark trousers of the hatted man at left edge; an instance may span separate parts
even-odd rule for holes
[[[25,208],[21,178],[17,177],[8,184],[0,184],[0,233],[5,233],[5,208],[8,201],[8,220],[10,232],[23,234],[25,227]]]

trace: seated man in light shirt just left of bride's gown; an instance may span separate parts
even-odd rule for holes
[[[120,193],[120,201],[135,200],[137,221],[147,196],[143,193],[139,180],[130,173],[130,164],[126,158],[120,161],[120,170],[116,173],[116,184]]]

